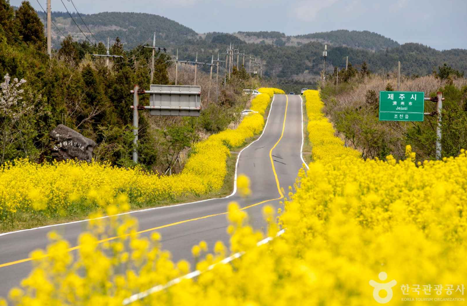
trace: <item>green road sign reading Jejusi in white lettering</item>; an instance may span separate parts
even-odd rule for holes
[[[380,91],[380,121],[423,121],[425,93],[417,91]]]

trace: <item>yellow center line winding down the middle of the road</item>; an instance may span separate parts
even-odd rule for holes
[[[259,202],[259,203],[256,203],[256,204],[252,204],[252,205],[249,205],[249,206],[245,206],[245,207],[243,207],[243,208],[240,208],[240,210],[245,210],[245,209],[248,209],[248,208],[257,206],[257,205],[261,205],[261,204],[264,204],[264,203],[267,203],[267,202],[271,202],[271,201],[281,200],[281,199],[284,198],[284,195],[282,194],[282,191],[281,191],[281,186],[280,186],[280,184],[279,184],[279,178],[277,178],[276,168],[274,167],[274,161],[273,161],[273,159],[272,159],[272,150],[274,150],[274,149],[276,148],[276,146],[279,144],[279,142],[281,141],[282,137],[284,136],[284,130],[285,130],[285,128],[286,128],[286,118],[287,118],[287,108],[288,108],[288,106],[289,106],[289,98],[288,98],[287,95],[286,95],[286,111],[285,111],[285,113],[284,113],[284,123],[282,124],[282,133],[281,133],[281,137],[279,138],[279,140],[274,144],[274,146],[273,146],[273,147],[271,148],[271,150],[269,151],[269,159],[271,160],[272,172],[274,173],[274,178],[275,178],[275,180],[276,180],[276,185],[277,185],[277,191],[279,191],[280,197],[279,197],[279,198],[276,198],[276,199],[265,200],[265,201],[262,201],[262,202]],[[227,212],[221,212],[221,213],[218,213],[218,214],[212,214],[212,215],[207,215],[207,216],[203,216],[203,217],[193,218],[193,219],[189,219],[189,220],[178,221],[178,222],[174,222],[174,223],[171,223],[171,224],[166,224],[166,225],[158,226],[158,227],[151,228],[151,229],[140,230],[140,231],[136,232],[136,234],[142,234],[142,233],[145,233],[145,232],[148,232],[148,231],[153,231],[153,230],[157,230],[157,229],[164,229],[164,228],[172,227],[172,226],[179,225],[179,224],[183,224],[183,223],[187,223],[187,222],[202,220],[202,219],[206,219],[206,218],[210,218],[210,217],[215,217],[215,216],[220,216],[220,215],[226,215],[226,214],[227,214]],[[107,242],[107,241],[111,241],[111,240],[115,240],[115,239],[119,239],[119,238],[124,238],[124,237],[127,237],[127,236],[129,236],[129,235],[130,235],[130,234],[124,234],[124,235],[120,235],[120,236],[115,236],[115,237],[110,237],[110,238],[102,239],[102,240],[97,241],[97,244],[103,243],[103,242]],[[80,248],[81,248],[81,246],[78,245],[78,246],[76,246],[76,247],[69,248],[69,249],[67,250],[67,252],[75,251],[75,250],[78,250],[78,249],[80,249]],[[45,257],[48,257],[48,255],[43,255],[43,256],[41,256],[41,257],[38,257],[37,259],[45,258]],[[31,260],[33,260],[33,259],[29,257],[29,258],[25,258],[25,259],[20,259],[20,260],[16,260],[16,261],[11,261],[11,262],[2,263],[2,264],[0,264],[0,268],[12,266],[12,265],[19,264],[19,263],[23,263],[23,262],[28,262],[28,261],[31,261]]]

